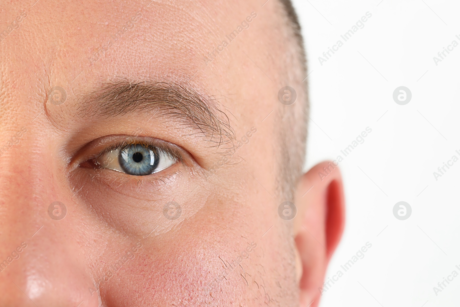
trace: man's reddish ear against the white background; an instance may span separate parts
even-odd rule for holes
[[[316,307],[328,262],[345,224],[342,176],[334,162],[321,162],[304,174],[295,194],[294,219],[301,307]]]

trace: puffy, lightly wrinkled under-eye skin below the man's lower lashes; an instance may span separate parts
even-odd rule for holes
[[[164,179],[165,185],[162,181],[143,180],[139,183],[139,180],[118,172],[103,171],[105,175],[100,175],[99,171],[88,175],[88,170],[82,170],[73,176],[74,190],[85,191],[75,198],[86,205],[93,218],[104,220],[114,228],[122,228],[129,236],[149,234],[154,229],[153,235],[168,232],[196,214],[204,204],[202,199],[207,199],[203,195],[206,191],[193,191],[195,185],[188,184],[190,178],[185,172]],[[174,197],[173,203],[171,195],[184,197]]]

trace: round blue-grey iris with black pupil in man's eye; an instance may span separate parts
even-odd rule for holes
[[[121,149],[118,161],[127,174],[142,176],[152,174],[160,158],[154,147],[132,144]]]

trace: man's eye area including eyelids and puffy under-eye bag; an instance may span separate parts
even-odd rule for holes
[[[201,178],[190,147],[173,136],[143,134],[84,135],[69,160],[74,199],[130,235],[150,233],[152,223],[169,227],[163,207],[172,199],[185,202],[180,196],[194,191]]]

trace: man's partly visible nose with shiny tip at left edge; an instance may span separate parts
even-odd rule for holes
[[[0,133],[0,306],[98,306],[74,206],[57,199],[67,196],[56,161],[31,131],[11,144],[16,132]]]

